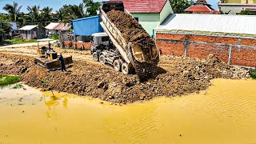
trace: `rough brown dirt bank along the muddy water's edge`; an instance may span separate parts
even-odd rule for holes
[[[124,75],[110,66],[94,62],[74,61],[67,73],[34,66],[33,58],[0,53],[0,74],[19,74],[22,82],[42,90],[58,90],[70,94],[100,98],[114,103],[149,100],[154,97],[181,96],[210,86],[213,78],[246,78],[246,70],[228,66],[215,56],[197,58],[163,56],[158,73],[147,82],[137,75]],[[6,62],[8,63],[6,64]]]

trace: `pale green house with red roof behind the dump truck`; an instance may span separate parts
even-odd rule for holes
[[[154,28],[170,14],[174,14],[169,0],[110,0],[123,2],[125,9],[142,25],[146,32],[153,35]]]

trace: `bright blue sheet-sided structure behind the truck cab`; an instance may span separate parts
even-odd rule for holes
[[[73,20],[74,35],[90,36],[103,32],[99,22],[102,22],[102,19],[98,16]]]

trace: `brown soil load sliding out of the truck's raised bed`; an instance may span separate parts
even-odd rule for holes
[[[150,37],[150,34],[130,14],[111,10],[107,13],[107,16],[121,32],[122,37],[125,38],[127,43],[131,42],[133,45],[135,44],[142,48],[142,52],[150,66],[146,65],[146,63],[134,62],[134,68],[142,82],[151,78],[152,73],[154,73],[153,70],[158,63],[158,59],[151,62],[150,50],[152,47],[156,47],[154,39]]]

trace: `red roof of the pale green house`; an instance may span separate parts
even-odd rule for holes
[[[110,0],[123,2],[125,9],[130,13],[160,13],[167,0]]]

